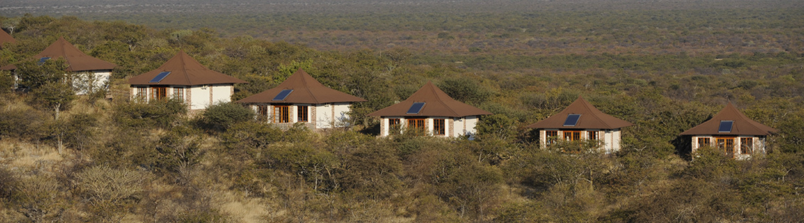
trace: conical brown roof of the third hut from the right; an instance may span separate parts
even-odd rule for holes
[[[421,111],[416,114],[408,114],[408,109],[413,103],[425,103]],[[444,116],[444,117],[464,117],[491,115],[491,112],[483,111],[480,108],[461,103],[449,97],[444,91],[438,89],[433,83],[427,82],[419,91],[410,95],[408,99],[392,106],[371,112],[368,116]]]

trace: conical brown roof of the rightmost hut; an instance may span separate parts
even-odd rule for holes
[[[733,121],[731,132],[719,132],[720,121]],[[743,115],[734,105],[729,102],[720,112],[717,112],[711,120],[705,121],[694,128],[681,132],[685,135],[748,135],[748,136],[768,136],[771,133],[779,132],[767,125],[760,124],[749,117]]]

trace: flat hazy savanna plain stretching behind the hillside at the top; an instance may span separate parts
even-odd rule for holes
[[[74,3],[74,4],[73,4]],[[73,4],[73,5],[68,5]],[[797,1],[11,1],[0,13],[211,28],[314,49],[486,55],[800,52]]]

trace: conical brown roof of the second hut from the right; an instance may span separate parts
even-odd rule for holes
[[[579,114],[580,118],[575,126],[564,126],[564,121],[570,114]],[[575,102],[569,104],[563,111],[558,114],[541,120],[535,124],[528,125],[527,128],[583,128],[583,129],[615,129],[628,127],[634,124],[626,122],[625,120],[617,119],[613,116],[606,115],[605,113],[597,110],[591,103],[586,101],[580,96]]]

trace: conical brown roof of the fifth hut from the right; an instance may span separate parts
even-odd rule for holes
[[[170,75],[164,77],[157,83],[150,83],[159,73],[170,72]],[[173,58],[168,59],[162,67],[156,68],[154,71],[148,71],[145,74],[137,75],[129,79],[129,84],[134,85],[202,85],[214,83],[247,83],[241,79],[236,79],[230,75],[224,75],[217,71],[212,71],[207,67],[203,67],[201,63],[191,58],[190,55],[184,51],[178,51],[178,54]]]

